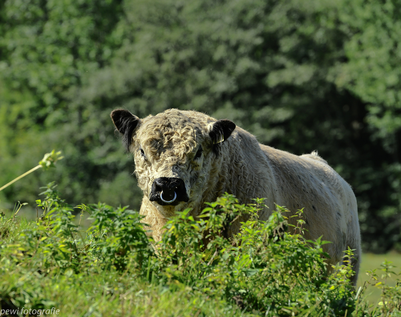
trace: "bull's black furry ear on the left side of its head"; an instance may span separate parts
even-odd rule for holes
[[[141,122],[136,115],[133,115],[128,110],[115,109],[110,113],[111,120],[119,133],[123,135],[123,144],[127,151],[130,150],[132,143],[132,134],[136,127]]]

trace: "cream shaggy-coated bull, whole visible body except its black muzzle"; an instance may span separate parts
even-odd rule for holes
[[[341,261],[348,247],[355,249],[352,282],[356,282],[361,251],[355,195],[316,152],[298,156],[262,145],[233,122],[196,111],[169,109],[139,119],[117,109],[111,117],[126,149],[134,154],[135,174],[144,193],[140,212],[156,241],[166,218],[176,210],[189,207],[197,216],[205,202],[224,192],[234,194],[241,204],[263,197],[269,208],[261,210],[261,220],[268,219],[275,204],[292,214],[304,208],[305,238],[322,236],[333,242],[323,245],[331,257],[329,264]],[[150,201],[158,178],[183,180],[188,201],[176,206]],[[234,224],[233,231],[239,226]]]

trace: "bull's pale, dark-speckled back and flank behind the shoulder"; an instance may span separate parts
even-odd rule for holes
[[[359,243],[356,199],[350,186],[316,153],[298,156],[260,147],[274,171],[277,204],[292,214],[304,208],[306,238],[323,236],[323,240],[334,242],[327,245],[327,251],[332,256],[330,262],[339,261],[348,245]],[[296,222],[296,217],[290,220]]]

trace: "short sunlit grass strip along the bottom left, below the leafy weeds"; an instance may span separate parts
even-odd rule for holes
[[[61,316],[241,315],[239,307],[221,299],[194,296],[189,288],[171,291],[116,271],[93,272],[91,276],[71,274],[71,271],[65,275],[43,276],[18,269],[10,273],[0,276],[0,292],[16,301],[24,297],[28,309],[32,302],[42,304],[36,305],[36,309],[55,307]],[[2,306],[5,309],[4,303]],[[15,306],[22,309],[24,305]]]

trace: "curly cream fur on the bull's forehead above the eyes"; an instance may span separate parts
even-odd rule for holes
[[[209,124],[214,121],[203,113],[168,109],[142,119],[134,145],[146,150],[150,161],[175,157],[184,164],[188,154],[207,139]]]

